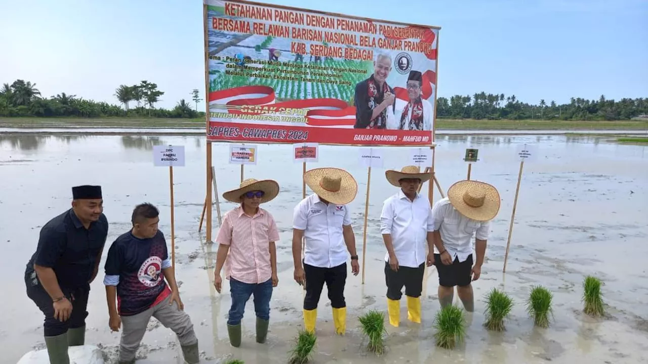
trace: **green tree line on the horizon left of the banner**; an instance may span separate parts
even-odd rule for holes
[[[172,109],[156,108],[164,91],[146,80],[137,85],[120,85],[115,89],[115,98],[121,105],[86,100],[76,95],[60,93],[49,98],[25,80],[0,87],[0,117],[158,117],[186,118],[204,117],[199,112],[200,98],[198,89],[189,94],[195,108],[185,99],[179,100]]]

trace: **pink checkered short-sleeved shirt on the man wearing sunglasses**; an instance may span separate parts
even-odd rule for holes
[[[277,223],[270,212],[259,208],[252,217],[244,214],[242,207],[227,212],[216,236],[218,244],[229,245],[227,279],[249,284],[270,279],[270,242],[278,240]]]

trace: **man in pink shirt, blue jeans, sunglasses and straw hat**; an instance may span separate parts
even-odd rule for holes
[[[219,245],[214,269],[214,286],[220,293],[220,271],[227,258],[226,278],[229,279],[232,297],[227,333],[233,347],[241,344],[241,319],[251,295],[254,295],[257,314],[257,343],[265,343],[268,336],[272,288],[279,283],[275,246],[279,240],[279,230],[270,212],[259,205],[277,197],[277,194],[279,184],[276,181],[257,181],[253,178],[246,179],[239,188],[223,194],[227,201],[239,204],[225,214],[216,236]]]

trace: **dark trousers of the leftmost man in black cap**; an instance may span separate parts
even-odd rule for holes
[[[32,272],[32,274],[36,274]],[[34,284],[34,281],[36,284]],[[86,325],[87,317],[87,297],[90,293],[90,285],[65,289],[61,287],[63,294],[72,302],[72,313],[67,321],[61,322],[54,318],[54,305],[52,297],[49,297],[45,288],[41,286],[36,277],[30,277],[30,273],[25,272],[25,285],[27,286],[27,297],[29,297],[36,306],[45,315],[43,331],[45,336],[58,336],[65,334],[69,328],[79,328]]]

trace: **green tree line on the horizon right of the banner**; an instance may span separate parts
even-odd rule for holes
[[[509,119],[509,120],[627,120],[640,115],[648,115],[648,98],[621,98],[608,100],[601,95],[598,100],[584,98],[570,99],[569,104],[547,103],[544,99],[538,104],[520,102],[515,95],[484,92],[450,99],[437,98],[437,117],[448,119]]]

